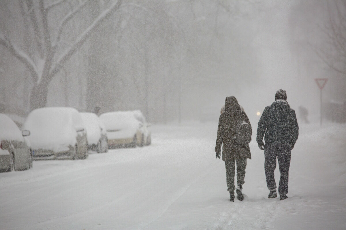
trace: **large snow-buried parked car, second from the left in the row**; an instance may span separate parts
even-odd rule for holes
[[[46,107],[31,111],[23,124],[34,159],[85,159],[86,130],[80,113],[69,107]]]

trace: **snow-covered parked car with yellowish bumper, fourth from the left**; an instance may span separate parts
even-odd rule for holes
[[[107,112],[100,115],[106,126],[108,147],[136,147],[142,142],[142,132],[132,111]]]

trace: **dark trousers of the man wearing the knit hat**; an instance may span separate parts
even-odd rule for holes
[[[288,170],[291,163],[291,150],[286,146],[266,144],[264,149],[264,171],[269,190],[276,189],[274,170],[276,168],[276,158],[279,162],[280,182],[279,194],[288,193]]]

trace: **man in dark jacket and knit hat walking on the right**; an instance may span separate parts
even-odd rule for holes
[[[258,122],[256,138],[258,147],[264,150],[265,177],[267,180],[267,187],[270,190],[268,198],[277,197],[274,179],[276,158],[279,162],[280,200],[287,198],[291,150],[298,139],[299,130],[295,111],[290,108],[286,99],[285,90],[280,89],[276,91],[275,101],[271,106],[265,107],[261,119]],[[265,144],[263,143],[263,136]]]

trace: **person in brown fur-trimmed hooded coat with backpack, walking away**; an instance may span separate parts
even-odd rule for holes
[[[247,158],[251,159],[249,142],[252,128],[250,121],[239,106],[234,96],[226,97],[225,110],[221,109],[216,139],[216,158],[220,158],[222,145],[222,160],[226,166],[226,182],[229,200],[234,202],[234,176],[237,165],[237,199],[243,200],[242,193]]]

